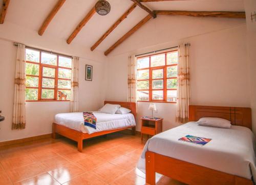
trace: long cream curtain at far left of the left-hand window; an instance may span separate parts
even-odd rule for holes
[[[24,44],[18,44],[17,48],[18,50],[14,82],[12,129],[24,129],[26,126],[26,50]]]

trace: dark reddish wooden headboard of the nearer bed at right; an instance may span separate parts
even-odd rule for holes
[[[217,117],[231,121],[232,125],[245,126],[251,129],[250,108],[189,105],[188,111],[189,121],[198,121],[203,117]]]

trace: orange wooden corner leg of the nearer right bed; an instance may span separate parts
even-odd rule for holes
[[[156,184],[156,172],[155,172],[155,155],[154,153],[147,151],[145,154],[146,162],[146,184]]]

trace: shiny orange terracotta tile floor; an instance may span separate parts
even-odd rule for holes
[[[86,140],[83,152],[67,138],[0,148],[0,185],[145,184],[135,172],[143,149],[139,136],[121,133]],[[158,185],[183,184],[161,177]]]

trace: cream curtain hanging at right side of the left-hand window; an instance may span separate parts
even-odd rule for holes
[[[70,112],[78,112],[78,65],[79,57],[72,57]]]

